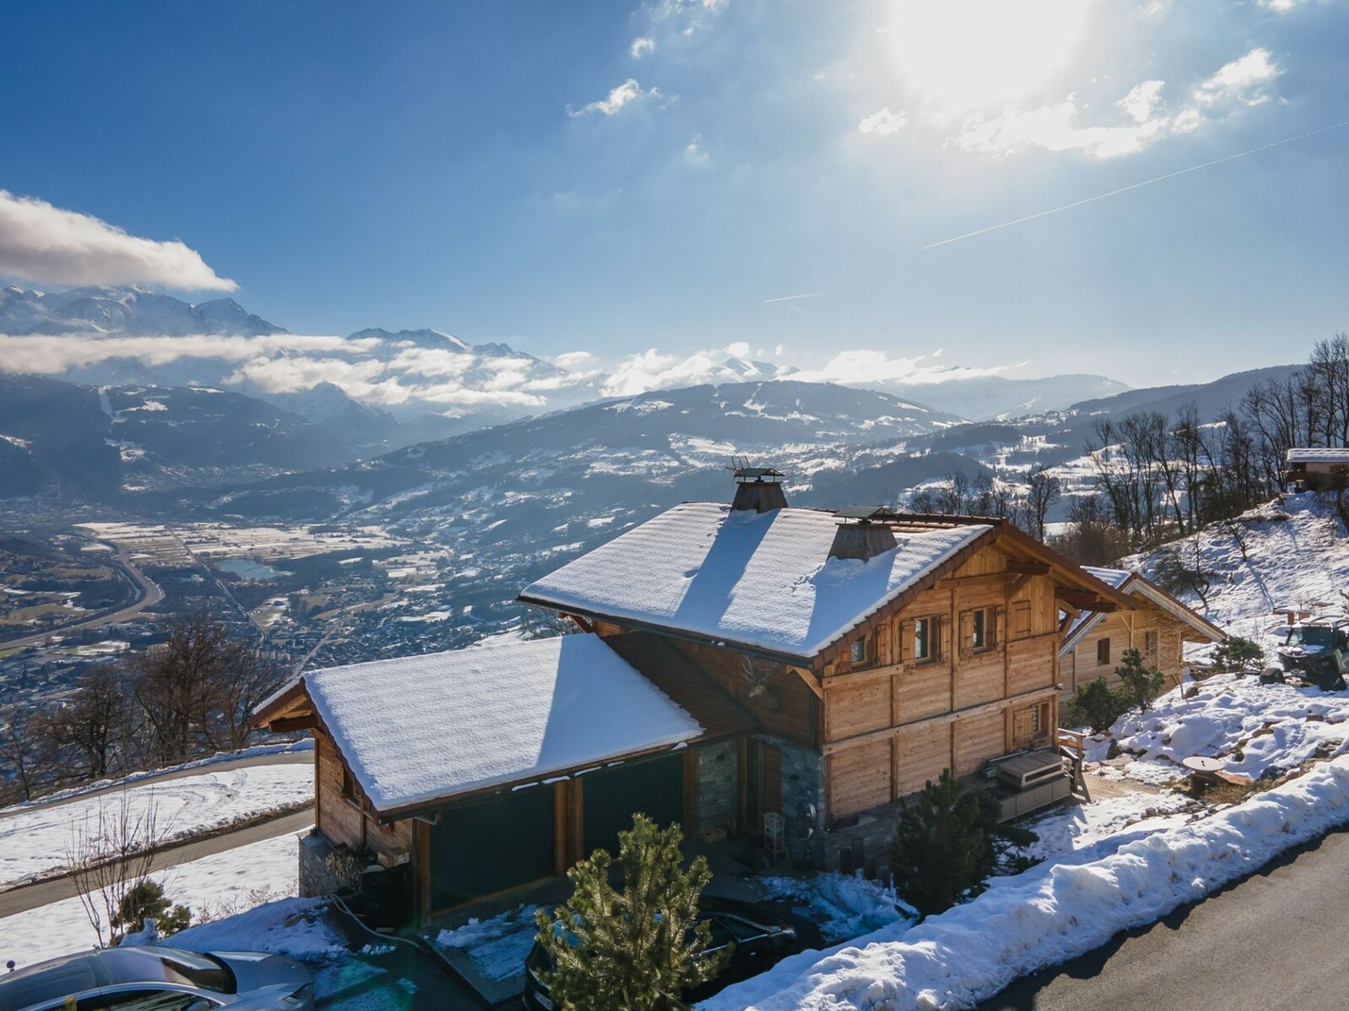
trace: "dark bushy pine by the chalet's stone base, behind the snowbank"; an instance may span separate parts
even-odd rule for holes
[[[890,869],[900,898],[929,917],[983,891],[983,880],[1013,847],[1036,840],[1029,829],[1000,825],[997,798],[942,770],[900,814]]]

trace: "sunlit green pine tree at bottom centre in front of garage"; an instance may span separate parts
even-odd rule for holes
[[[684,991],[720,972],[730,950],[699,957],[711,926],[697,923],[697,899],[712,874],[701,856],[685,871],[679,842],[679,826],[635,814],[618,833],[623,890],[596,849],[567,872],[571,899],[538,911],[538,942],[553,956],[544,981],[560,1010],[681,1011]]]

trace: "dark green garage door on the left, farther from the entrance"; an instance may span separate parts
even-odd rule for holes
[[[430,829],[430,907],[449,909],[553,874],[553,787],[445,807]]]

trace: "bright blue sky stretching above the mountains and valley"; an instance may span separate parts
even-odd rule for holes
[[[181,240],[297,333],[1153,386],[1349,326],[1349,128],[921,248],[1349,119],[1338,3],[0,13],[0,189]]]

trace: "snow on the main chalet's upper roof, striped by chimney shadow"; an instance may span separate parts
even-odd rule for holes
[[[685,503],[521,594],[561,611],[637,621],[808,658],[992,530],[898,532],[866,561],[830,558],[838,520],[816,510]]]

